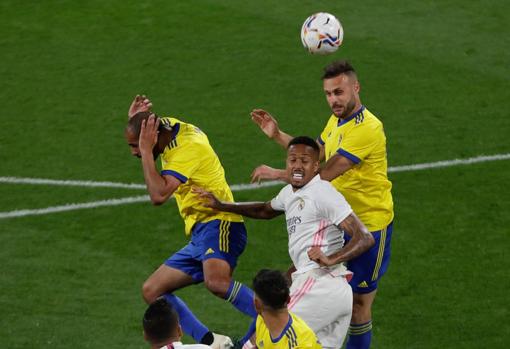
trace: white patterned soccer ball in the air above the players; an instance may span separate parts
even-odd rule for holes
[[[344,30],[332,14],[319,12],[308,17],[301,27],[301,41],[310,53],[328,55],[342,44]]]

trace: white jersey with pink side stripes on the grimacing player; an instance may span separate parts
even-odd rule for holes
[[[328,256],[344,246],[344,233],[337,226],[352,213],[351,206],[330,182],[319,175],[295,192],[290,184],[285,186],[271,200],[271,207],[285,211],[289,255],[296,273],[320,268],[308,258],[311,247],[319,246]]]

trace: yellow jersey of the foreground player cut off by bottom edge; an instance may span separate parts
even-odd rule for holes
[[[277,338],[272,338],[262,316],[257,316],[255,325],[258,349],[322,349],[317,336],[297,315],[289,313],[289,322]]]

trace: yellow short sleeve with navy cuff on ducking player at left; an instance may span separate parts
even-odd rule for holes
[[[174,176],[186,183],[200,165],[201,152],[192,143],[183,144],[163,153],[161,175]]]

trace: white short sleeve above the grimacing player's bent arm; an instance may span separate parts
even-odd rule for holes
[[[320,188],[317,197],[319,198],[317,200],[319,214],[335,225],[339,225],[352,213],[351,205],[329,182]]]

